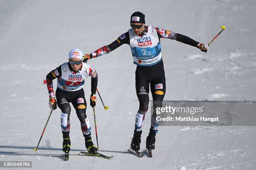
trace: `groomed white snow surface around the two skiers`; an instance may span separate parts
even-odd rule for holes
[[[105,111],[100,100],[96,107],[100,150],[114,158],[79,155],[85,146],[74,109],[70,160],[62,158],[59,108],[51,115],[38,151],[33,151],[50,112],[46,74],[66,62],[72,48],[89,53],[113,42],[130,28],[130,16],[137,10],[146,14],[148,25],[205,43],[226,26],[207,53],[161,39],[164,100],[256,100],[255,7],[254,0],[0,0],[0,161],[32,161],[30,169],[35,170],[256,169],[253,126],[163,126],[153,158],[128,153],[138,110],[136,65],[128,45],[89,61],[99,74],[98,88],[109,107]],[[89,99],[90,79],[84,90]],[[87,108],[87,116],[96,144],[92,108]],[[149,126],[148,113],[142,150]]]

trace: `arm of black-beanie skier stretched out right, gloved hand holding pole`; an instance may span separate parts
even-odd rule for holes
[[[192,38],[187,37],[186,35],[182,35],[179,33],[175,33],[169,30],[165,30],[163,28],[156,28],[157,35],[159,38],[169,38],[171,40],[177,40],[179,42],[183,42],[188,45],[192,45],[193,47],[199,48],[203,52],[207,52],[208,45],[205,45],[203,43],[197,42],[193,40]]]

